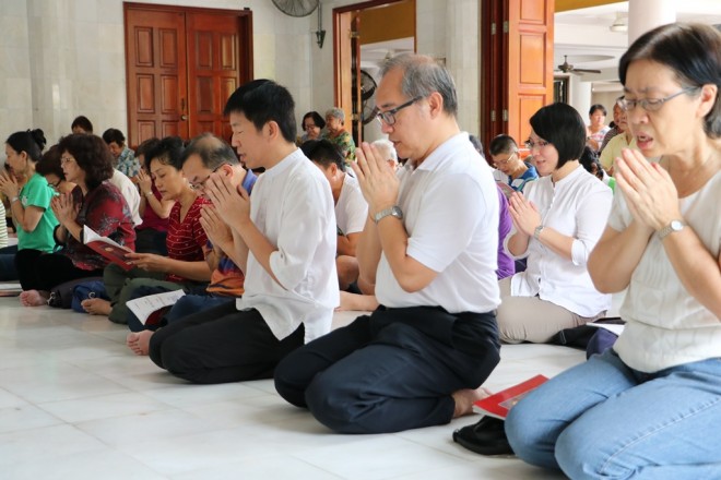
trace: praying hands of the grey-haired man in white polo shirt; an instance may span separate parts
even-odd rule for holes
[[[351,164],[363,196],[368,202],[368,214],[373,218],[378,212],[398,203],[399,181],[395,171],[375,145],[363,142],[356,152],[356,161]]]

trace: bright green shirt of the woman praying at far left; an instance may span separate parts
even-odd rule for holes
[[[25,231],[20,225],[17,226],[17,249],[33,249],[42,252],[51,252],[55,248],[55,239],[52,232],[58,225],[58,219],[50,209],[50,199],[55,195],[52,187],[50,187],[39,173],[33,175],[27,180],[27,183],[20,190],[20,202],[23,208],[28,206],[36,206],[43,209],[43,216],[37,223],[35,230]]]

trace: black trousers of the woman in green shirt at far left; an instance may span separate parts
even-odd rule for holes
[[[23,290],[50,291],[52,287],[75,278],[103,276],[103,268],[78,268],[62,253],[43,253],[37,250],[19,250],[15,254],[15,268]]]

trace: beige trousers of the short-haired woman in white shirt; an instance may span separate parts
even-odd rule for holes
[[[500,307],[496,313],[500,339],[507,344],[545,344],[562,329],[593,322],[606,313],[601,312],[591,317],[580,316],[539,297],[512,297],[510,283],[511,277],[498,281]]]

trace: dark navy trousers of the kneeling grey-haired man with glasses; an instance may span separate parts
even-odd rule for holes
[[[275,389],[342,433],[448,423],[451,394],[476,388],[498,364],[495,315],[381,307],[315,339],[275,370]]]

